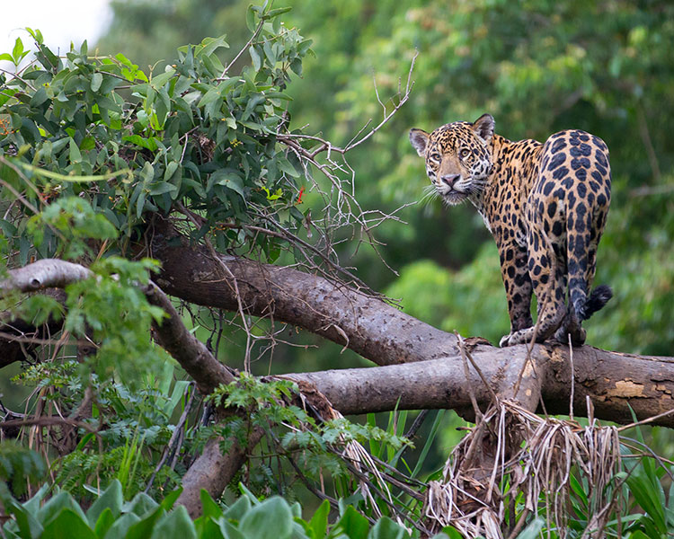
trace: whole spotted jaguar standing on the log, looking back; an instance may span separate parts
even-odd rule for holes
[[[606,286],[589,294],[611,199],[608,148],[577,129],[541,144],[511,142],[493,128],[492,116],[484,114],[430,134],[412,129],[410,140],[439,196],[450,205],[470,200],[496,240],[510,314],[501,346],[534,336],[568,342],[568,335],[580,346],[581,322],[612,296]]]

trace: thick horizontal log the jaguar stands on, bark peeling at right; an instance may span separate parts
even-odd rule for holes
[[[473,354],[492,388],[503,394],[516,383],[526,360],[524,345],[507,349],[478,347]],[[571,396],[571,365],[567,348],[537,345],[531,353],[534,369],[541,377],[545,409],[551,414],[568,414]],[[640,420],[674,410],[674,358],[632,356],[595,349],[573,349],[575,366],[574,414],[587,415],[587,397],[595,417],[629,423],[632,412]],[[535,372],[534,372],[535,371]],[[473,389],[481,408],[492,402],[491,393],[470,368],[466,376],[458,356],[406,365],[328,370],[285,375],[312,384],[342,414],[368,411],[453,409],[473,420],[467,387]],[[521,397],[524,384],[520,387]],[[542,410],[539,410],[542,411]],[[652,421],[674,428],[674,413]]]

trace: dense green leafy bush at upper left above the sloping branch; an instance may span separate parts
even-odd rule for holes
[[[300,172],[275,139],[287,124],[281,91],[311,41],[281,26],[282,12],[249,12],[261,40],[241,75],[229,75],[217,57],[224,37],[181,47],[173,66],[146,75],[120,54],[88,56],[86,43],[56,57],[33,33],[37,62],[0,80],[8,119],[0,155],[15,155],[4,162],[4,181],[19,191],[31,186],[26,203],[45,211],[28,227],[14,217],[10,247],[30,239],[43,257],[64,254],[49,231],[66,226],[76,238],[82,230],[94,239],[119,234],[115,250],[124,252],[137,225],[176,201],[207,216],[200,234],[218,221],[254,222],[272,207],[297,228]],[[229,229],[215,235],[219,247],[241,239]],[[260,241],[266,246],[266,236]],[[81,242],[67,244],[67,256],[83,254]]]

